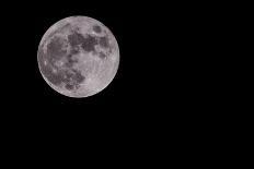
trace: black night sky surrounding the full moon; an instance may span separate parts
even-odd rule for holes
[[[231,3],[1,1],[1,166],[171,168],[172,161],[177,167],[218,166],[216,161],[228,166],[238,157],[235,152],[246,149],[235,148],[242,146],[238,138],[245,142],[250,135],[235,133],[252,129],[238,120],[250,110],[230,110],[240,88],[232,86],[236,79],[227,83],[239,73],[232,73],[239,69],[231,63],[235,53],[229,55],[235,50],[230,41],[238,32],[232,29],[238,8]],[[45,32],[73,15],[102,22],[119,46],[113,82],[88,98],[55,92],[37,63]]]

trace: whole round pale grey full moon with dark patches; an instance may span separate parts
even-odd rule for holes
[[[56,92],[69,97],[88,97],[113,81],[119,64],[119,49],[104,24],[88,16],[70,16],[45,33],[37,61],[44,80]]]

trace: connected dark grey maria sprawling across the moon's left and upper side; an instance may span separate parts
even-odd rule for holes
[[[99,31],[99,29],[97,29]],[[67,53],[66,45],[70,46],[70,52]],[[107,37],[95,37],[91,35],[83,36],[82,34],[72,31],[68,35],[68,40],[61,37],[55,36],[51,41],[47,45],[47,52],[44,53],[43,47],[38,50],[38,62],[41,65],[41,71],[45,77],[54,85],[59,86],[65,83],[66,89],[72,90],[79,88],[80,84],[85,80],[80,71],[73,69],[73,65],[78,63],[78,60],[73,58],[74,55],[80,52],[82,48],[86,52],[95,52],[95,45],[100,45],[103,48],[108,48]],[[67,62],[65,63],[64,70],[59,70],[54,63],[66,57]],[[104,59],[106,55],[99,52],[99,57]],[[48,61],[48,64],[44,64],[44,60]],[[57,72],[54,73],[53,70]]]

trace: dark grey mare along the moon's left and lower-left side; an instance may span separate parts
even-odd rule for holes
[[[65,46],[64,39],[54,37],[51,41],[47,45],[47,52],[43,51],[41,46],[38,49],[38,63],[42,73],[44,76],[54,85],[59,86],[61,83],[66,84],[67,89],[73,89],[79,87],[79,83],[84,81],[84,76],[80,71],[72,69],[73,64],[78,62],[77,59],[73,59],[71,55],[73,51],[67,55],[67,50],[62,47]],[[64,70],[59,70],[54,63],[67,57],[67,62]],[[44,61],[47,61],[47,65],[44,64]],[[56,70],[56,73],[53,70]]]

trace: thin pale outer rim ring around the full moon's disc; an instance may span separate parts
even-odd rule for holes
[[[115,52],[113,55],[111,55],[109,57],[115,57],[116,60],[112,63],[112,65],[114,67],[113,68],[113,74],[109,75],[109,77],[106,80],[106,82],[104,82],[104,84],[97,88],[96,90],[91,90],[89,92],[88,94],[84,94],[84,93],[80,93],[80,94],[76,94],[76,93],[72,93],[72,92],[69,92],[69,90],[66,90],[65,88],[61,88],[59,86],[56,86],[54,84],[51,84],[47,77],[42,73],[42,68],[39,65],[39,62],[38,62],[38,52],[39,50],[44,50],[42,49],[43,47],[43,44],[47,40],[48,36],[54,33],[55,31],[57,31],[58,28],[60,28],[61,26],[65,26],[66,24],[70,23],[71,26],[73,26],[73,23],[77,22],[78,20],[89,20],[90,22],[88,22],[86,24],[91,24],[91,23],[96,23],[101,26],[103,26],[105,29],[108,31],[109,33],[109,38],[113,38],[113,41],[115,43],[114,47],[115,47]],[[83,21],[85,22],[85,21]],[[78,24],[78,23],[76,23]],[[77,26],[77,25],[74,25]],[[82,26],[79,25],[79,26]],[[38,64],[38,68],[39,68],[39,72],[41,74],[43,75],[43,79],[46,81],[46,83],[54,89],[56,90],[57,93],[61,94],[61,95],[65,95],[67,97],[71,97],[71,98],[85,98],[85,97],[90,97],[90,96],[93,96],[95,94],[99,94],[101,93],[102,90],[104,90],[112,82],[113,80],[115,79],[117,72],[118,72],[118,68],[119,68],[119,60],[120,60],[120,55],[119,55],[119,46],[118,46],[118,43],[116,40],[116,37],[114,36],[114,34],[111,32],[111,29],[105,26],[103,23],[101,23],[100,21],[95,20],[95,19],[92,19],[90,16],[82,16],[82,15],[72,15],[72,16],[68,16],[68,17],[65,17],[65,19],[61,19],[59,21],[57,21],[55,24],[53,24],[47,31],[46,33],[43,35],[43,38],[41,39],[39,41],[39,45],[38,45],[38,49],[37,49],[37,64]],[[82,85],[82,84],[81,84]]]

